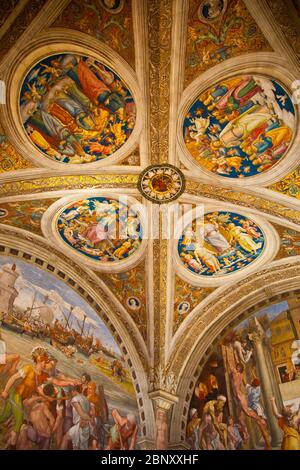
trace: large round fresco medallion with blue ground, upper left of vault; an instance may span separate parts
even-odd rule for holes
[[[135,124],[135,103],[107,66],[78,54],[47,57],[27,74],[20,115],[31,142],[61,163],[90,163],[115,153]]]

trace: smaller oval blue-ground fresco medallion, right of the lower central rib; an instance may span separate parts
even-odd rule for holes
[[[264,246],[263,232],[251,219],[233,212],[210,212],[186,227],[178,254],[192,273],[217,277],[249,266]]]

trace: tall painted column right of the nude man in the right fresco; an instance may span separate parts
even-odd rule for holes
[[[265,412],[271,434],[272,447],[279,447],[282,440],[282,432],[278,426],[277,419],[274,416],[272,404],[270,401],[270,397],[276,396],[276,391],[274,390],[274,382],[270,375],[266,357],[269,354],[269,351],[264,345],[264,329],[262,328],[257,318],[255,318],[255,324],[255,329],[252,333],[249,334],[249,338],[254,346],[259,378],[261,382],[261,390],[264,399]]]

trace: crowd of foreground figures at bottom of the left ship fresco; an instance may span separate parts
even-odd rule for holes
[[[47,348],[35,347],[31,358],[20,366],[20,356],[7,353],[0,365],[0,440],[6,449],[135,448],[135,415],[112,409],[110,416],[102,385],[85,372],[78,378],[62,373]]]

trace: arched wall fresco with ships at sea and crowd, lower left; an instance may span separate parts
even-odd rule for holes
[[[52,274],[0,258],[0,449],[133,449],[133,384],[95,311]]]

